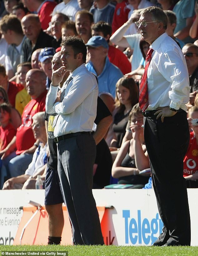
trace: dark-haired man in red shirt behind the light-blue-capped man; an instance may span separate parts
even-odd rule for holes
[[[109,44],[109,38],[111,37],[112,29],[109,23],[99,21],[92,25],[92,36],[102,36]],[[124,74],[131,72],[131,63],[124,53],[113,45],[109,45],[108,57],[112,64],[120,68]]]

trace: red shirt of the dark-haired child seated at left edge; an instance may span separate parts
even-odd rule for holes
[[[0,150],[3,150],[11,142],[12,138],[16,135],[16,130],[12,123],[8,123],[7,126],[0,126]]]

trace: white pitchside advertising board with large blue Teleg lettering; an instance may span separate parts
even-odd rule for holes
[[[97,206],[113,206],[106,209],[101,223],[106,244],[150,245],[161,233],[163,223],[152,189],[94,189],[93,194]],[[198,189],[188,189],[188,198],[191,245],[198,245]],[[44,190],[0,191],[1,245],[13,243],[23,212],[19,207],[29,200],[44,205]]]

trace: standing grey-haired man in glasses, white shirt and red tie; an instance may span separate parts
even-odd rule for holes
[[[140,107],[144,103],[144,138],[164,223],[163,233],[153,245],[190,245],[190,213],[183,178],[183,158],[189,144],[185,104],[190,86],[186,60],[175,40],[165,33],[167,16],[162,9],[148,7],[140,15],[136,25],[150,44],[152,55],[149,66],[145,65],[147,76],[145,72],[143,77],[147,79],[141,79],[139,103]],[[148,100],[146,96],[142,98],[141,92],[148,92]]]

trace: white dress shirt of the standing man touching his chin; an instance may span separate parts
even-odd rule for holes
[[[73,79],[67,85],[71,76]],[[61,92],[65,89],[62,102],[54,104],[58,86],[52,84],[46,97],[46,112],[58,114],[53,122],[54,137],[92,131],[96,118],[98,96],[96,77],[82,64],[70,73],[67,81],[61,88]]]

